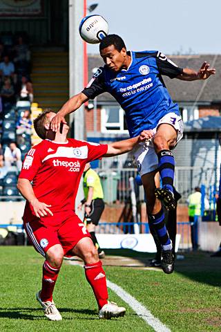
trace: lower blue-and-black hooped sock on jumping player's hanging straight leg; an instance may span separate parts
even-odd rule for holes
[[[157,214],[148,214],[148,222],[153,225],[162,246],[172,243],[166,230],[164,210],[162,208]]]

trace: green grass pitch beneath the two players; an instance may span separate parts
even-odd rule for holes
[[[117,254],[112,250],[108,253]],[[104,260],[108,279],[146,306],[171,331],[221,331],[220,258],[211,258],[202,252],[186,254],[183,261],[176,262],[175,273],[165,275],[161,270],[145,270],[148,266],[146,254],[128,250],[118,253],[131,257],[131,267],[128,262],[125,264],[125,259],[108,256]],[[29,246],[1,246],[0,257],[1,332],[153,331],[110,290],[110,299],[125,306],[126,315],[99,320],[97,303],[84,277],[84,270],[70,266],[67,261],[61,268],[54,293],[63,320],[50,322],[35,300],[35,293],[41,288],[44,259]]]

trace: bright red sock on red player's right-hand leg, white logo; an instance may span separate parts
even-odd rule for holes
[[[102,261],[84,266],[86,279],[93,288],[99,309],[108,303],[108,290],[106,288],[106,275],[102,268]]]

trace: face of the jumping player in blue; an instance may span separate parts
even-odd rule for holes
[[[101,50],[101,56],[111,71],[120,71],[125,66],[126,48],[119,51],[114,45],[111,45]]]

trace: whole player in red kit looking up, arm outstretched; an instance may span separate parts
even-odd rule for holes
[[[37,300],[49,320],[62,319],[52,293],[64,255],[77,255],[84,260],[86,279],[97,299],[99,318],[119,317],[126,309],[108,302],[102,261],[84,223],[75,214],[75,197],[86,163],[131,151],[137,142],[151,138],[151,133],[144,131],[136,138],[97,145],[67,138],[67,124],[60,132],[52,131],[50,122],[55,115],[48,109],[35,120],[35,131],[43,140],[28,151],[17,184],[26,199],[24,228],[37,252],[46,258]]]

